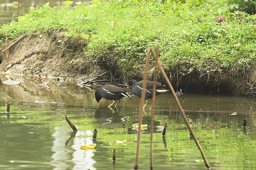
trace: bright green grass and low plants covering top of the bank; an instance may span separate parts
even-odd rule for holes
[[[46,4],[1,26],[0,42],[6,36],[61,30],[67,37],[87,39],[87,58],[109,58],[122,73],[143,69],[147,48],[158,43],[163,65],[179,65],[183,74],[228,71],[231,65],[239,69],[256,59],[256,15],[239,16],[242,5],[233,1],[92,0],[73,8],[68,3]],[[226,21],[216,22],[221,15]]]

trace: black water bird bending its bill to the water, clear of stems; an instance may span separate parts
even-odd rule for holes
[[[116,107],[124,96],[131,98],[131,96],[126,92],[125,89],[115,85],[103,85],[101,88],[98,88],[95,91],[95,99],[98,103],[98,108],[99,100],[102,98],[113,101],[113,103],[108,105],[108,107],[111,108],[111,106],[115,103],[115,100],[119,100],[115,105]]]

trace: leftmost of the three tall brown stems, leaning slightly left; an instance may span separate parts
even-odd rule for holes
[[[142,124],[142,115],[143,115],[143,104],[145,99],[145,89],[146,89],[146,80],[147,80],[147,73],[148,73],[148,65],[149,65],[149,57],[150,57],[150,48],[148,48],[148,54],[147,54],[147,60],[146,60],[146,66],[145,66],[145,73],[143,77],[143,91],[140,98],[140,114],[139,114],[139,127],[138,127],[138,138],[137,138],[137,150],[136,150],[136,156],[135,156],[135,164],[134,164],[134,170],[138,169],[139,164],[139,155],[140,155],[140,133],[141,133],[141,124]]]

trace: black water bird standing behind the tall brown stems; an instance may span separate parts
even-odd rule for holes
[[[146,81],[146,89],[145,89],[145,100],[146,100],[146,103],[143,106],[143,109],[146,107],[146,105],[148,103],[148,99],[152,99],[153,98],[153,90],[154,90],[153,89],[153,84],[154,84],[153,81],[148,81],[148,80]],[[169,90],[163,89],[164,86],[165,85],[163,85],[160,82],[156,83],[156,96],[161,94],[161,93],[169,91]],[[137,82],[136,80],[131,79],[128,82],[128,87],[127,88],[129,88],[129,87],[131,87],[131,91],[132,91],[132,93],[134,95],[136,95],[138,97],[141,97],[142,90],[143,90],[143,80]],[[151,103],[150,108],[152,108],[152,103]]]

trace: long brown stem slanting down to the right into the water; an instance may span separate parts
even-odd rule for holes
[[[174,96],[174,98],[175,98],[175,101],[176,101],[176,103],[177,103],[177,105],[178,105],[178,108],[180,109],[180,112],[181,112],[181,114],[182,114],[182,116],[183,116],[183,119],[184,119],[184,121],[185,121],[187,127],[189,128],[189,131],[190,131],[191,135],[193,136],[193,138],[194,138],[194,140],[195,140],[195,143],[197,144],[197,146],[198,146],[198,148],[199,148],[199,150],[200,150],[200,152],[201,152],[201,155],[202,155],[202,157],[203,157],[203,159],[204,159],[204,162],[205,162],[206,167],[207,167],[208,169],[210,169],[210,164],[208,163],[208,161],[207,161],[207,159],[206,159],[206,157],[205,157],[205,155],[204,155],[204,151],[203,151],[201,145],[199,144],[198,140],[196,139],[195,134],[193,133],[192,128],[191,128],[190,125],[189,125],[189,121],[188,121],[187,118],[186,118],[186,115],[185,115],[185,113],[184,113],[184,111],[183,111],[183,109],[182,109],[182,107],[181,107],[181,105],[180,105],[180,101],[179,101],[179,99],[177,98],[177,96],[176,96],[176,94],[175,94],[175,91],[174,91],[174,89],[173,89],[173,87],[172,87],[171,82],[169,81],[168,76],[166,75],[166,72],[163,70],[163,67],[162,67],[162,65],[160,64],[160,62],[158,61],[157,55],[155,54],[155,52],[153,51],[153,49],[152,49],[151,47],[149,47],[148,49],[151,50],[151,52],[152,52],[152,54],[153,54],[153,56],[154,56],[154,59],[155,59],[156,62],[157,62],[158,67],[160,68],[161,72],[163,73],[163,77],[165,78],[167,84],[169,85],[169,88],[170,88],[171,91],[172,91],[172,94],[173,94],[173,96]]]

